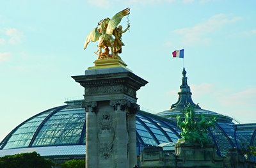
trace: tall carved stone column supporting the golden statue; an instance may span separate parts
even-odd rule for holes
[[[123,67],[90,69],[72,78],[84,87],[86,168],[136,165],[136,91],[147,81]]]

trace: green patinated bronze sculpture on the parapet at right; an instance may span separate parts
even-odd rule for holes
[[[197,104],[198,105],[198,104]],[[198,121],[195,121],[195,111],[194,108],[189,104],[185,111],[185,121],[181,121],[180,116],[177,115],[177,125],[181,129],[180,135],[183,137],[179,140],[191,140],[193,142],[198,142],[203,147],[203,144],[209,142],[207,137],[207,128],[214,126],[216,122],[216,116],[211,116],[209,119],[205,119],[204,114],[198,116]]]

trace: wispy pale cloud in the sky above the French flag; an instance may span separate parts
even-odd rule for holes
[[[209,20],[197,24],[196,26],[176,29],[173,33],[181,34],[184,36],[185,45],[195,45],[200,43],[210,43],[211,38],[205,37],[205,35],[210,34],[218,29],[221,29],[225,24],[230,24],[241,20],[241,17],[233,17],[229,19],[231,15],[218,14],[212,16]]]

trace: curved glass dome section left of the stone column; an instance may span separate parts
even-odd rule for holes
[[[83,144],[84,109],[79,105],[55,107],[24,121],[1,149]]]

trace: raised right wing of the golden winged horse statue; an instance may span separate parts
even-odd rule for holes
[[[115,16],[113,16],[111,20],[109,20],[106,33],[113,34],[114,29],[116,28],[116,26],[118,26],[118,24],[120,24],[122,18],[129,14],[130,14],[130,8],[126,8],[125,10],[122,10],[116,13]]]

